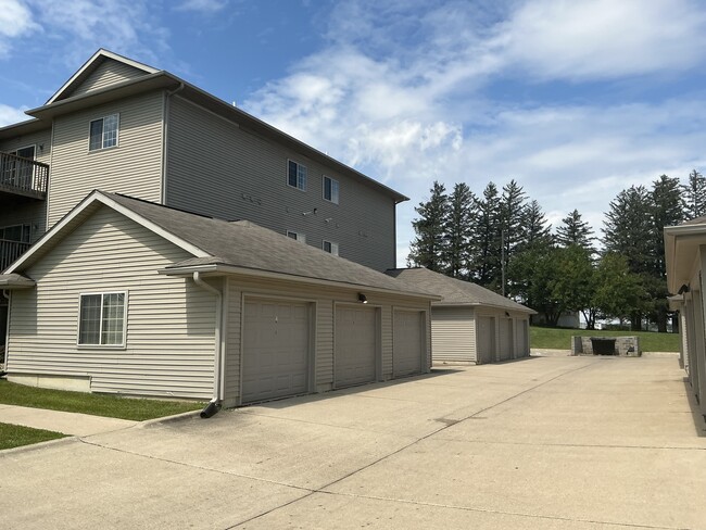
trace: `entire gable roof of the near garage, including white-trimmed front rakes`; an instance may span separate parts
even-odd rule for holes
[[[2,277],[22,273],[100,207],[111,207],[185,249],[193,257],[167,266],[162,273],[194,270],[267,275],[295,281],[325,282],[374,289],[428,300],[433,294],[357,263],[329,254],[250,222],[227,222],[163,206],[116,193],[91,192],[49,232],[13,263]]]

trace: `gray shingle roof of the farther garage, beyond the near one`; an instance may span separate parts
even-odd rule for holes
[[[522,304],[506,299],[490,289],[480,287],[470,281],[463,281],[456,278],[434,273],[425,267],[417,268],[391,268],[386,274],[404,281],[407,286],[414,286],[427,292],[433,292],[442,296],[436,306],[487,306],[501,310],[520,311],[522,313],[537,313]]]

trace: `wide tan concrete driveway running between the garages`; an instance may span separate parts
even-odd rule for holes
[[[683,376],[532,357],[5,451],[0,527],[706,528]]]

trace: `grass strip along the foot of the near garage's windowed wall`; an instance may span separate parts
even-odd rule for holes
[[[4,379],[0,379],[0,403],[136,421],[197,411],[205,405],[205,403],[198,402],[136,400],[86,392],[38,389],[8,382]]]

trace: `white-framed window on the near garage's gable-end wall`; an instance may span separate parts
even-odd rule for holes
[[[81,294],[78,344],[122,346],[125,344],[125,293]]]

